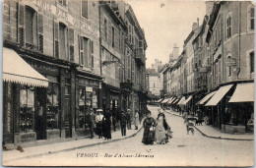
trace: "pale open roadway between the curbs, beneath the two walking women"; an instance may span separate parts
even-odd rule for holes
[[[156,118],[158,107],[149,106],[149,109]],[[142,130],[130,139],[12,160],[5,162],[5,165],[241,167],[254,164],[253,140],[209,139],[198,131],[187,135],[182,118],[168,113],[165,116],[173,131],[173,138],[167,144],[144,145],[141,142]]]

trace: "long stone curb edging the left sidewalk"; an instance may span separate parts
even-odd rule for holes
[[[136,133],[132,134],[131,136],[125,137],[125,138],[120,138],[120,139],[115,139],[115,140],[108,140],[108,141],[103,141],[103,142],[96,142],[96,143],[81,145],[81,146],[77,146],[77,147],[65,148],[65,149],[56,150],[56,151],[49,151],[49,152],[39,153],[39,154],[35,154],[35,155],[18,157],[18,158],[13,158],[13,159],[10,159],[10,160],[6,160],[5,162],[9,162],[9,161],[13,161],[13,160],[20,160],[20,159],[33,158],[33,157],[40,157],[40,156],[47,155],[47,154],[56,154],[56,153],[65,152],[65,151],[72,151],[72,150],[76,150],[76,149],[80,149],[80,148],[91,147],[91,146],[100,145],[100,144],[106,144],[106,143],[119,141],[119,140],[127,140],[127,139],[135,137],[142,129],[143,129],[143,127],[141,127]]]

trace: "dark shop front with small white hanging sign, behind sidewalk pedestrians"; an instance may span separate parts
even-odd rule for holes
[[[89,110],[100,108],[100,80],[77,75],[76,78],[76,136],[90,134]]]

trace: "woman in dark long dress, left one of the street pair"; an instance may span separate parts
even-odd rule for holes
[[[142,142],[144,144],[154,144],[155,135],[154,127],[156,126],[156,121],[151,117],[151,111],[148,111],[146,119],[143,121],[144,134]]]

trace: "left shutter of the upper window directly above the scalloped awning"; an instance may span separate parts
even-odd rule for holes
[[[21,46],[25,45],[25,6],[19,4],[19,13],[18,13],[18,36],[19,36],[19,43]]]

